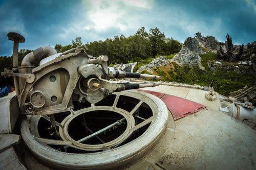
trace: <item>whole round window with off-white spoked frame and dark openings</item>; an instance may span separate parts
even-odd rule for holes
[[[161,139],[168,110],[156,96],[137,90],[102,101],[75,104],[55,114],[60,138],[50,136],[48,116],[29,116],[22,136],[33,155],[53,168],[124,168],[140,160]]]

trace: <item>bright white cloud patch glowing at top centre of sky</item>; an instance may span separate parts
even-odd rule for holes
[[[140,16],[135,16],[133,13],[151,9],[153,0],[97,0],[93,2],[84,0],[82,4],[87,10],[87,19],[92,21],[92,25],[86,26],[84,29],[94,28],[96,31],[102,31],[115,27],[126,31],[128,28],[133,28],[134,23],[140,19]]]

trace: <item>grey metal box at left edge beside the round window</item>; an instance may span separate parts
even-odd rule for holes
[[[0,134],[11,133],[19,115],[16,95],[0,100]]]

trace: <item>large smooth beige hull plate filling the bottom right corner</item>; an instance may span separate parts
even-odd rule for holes
[[[175,121],[162,169],[255,169],[256,131],[212,109]]]

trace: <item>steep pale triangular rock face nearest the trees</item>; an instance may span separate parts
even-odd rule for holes
[[[172,61],[177,62],[181,66],[198,65],[201,69],[203,69],[201,64],[201,57],[199,54],[205,54],[205,52],[202,50],[202,48],[199,47],[198,39],[188,37],[185,40],[180,52],[174,56]]]

